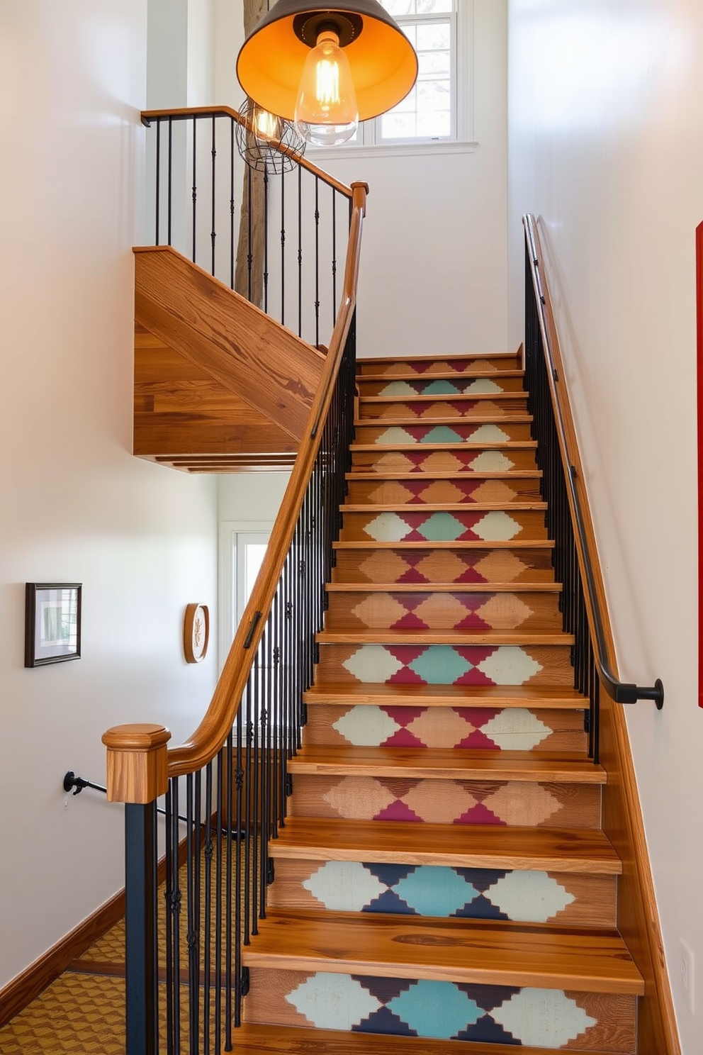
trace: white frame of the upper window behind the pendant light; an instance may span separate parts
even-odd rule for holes
[[[338,147],[308,147],[313,157],[404,157],[416,154],[464,154],[476,149],[473,139],[473,0],[454,0],[455,9],[449,16],[453,22],[452,49],[452,134],[448,138],[379,139],[380,118],[362,121],[357,139]],[[395,16],[404,22],[440,22],[446,14]]]

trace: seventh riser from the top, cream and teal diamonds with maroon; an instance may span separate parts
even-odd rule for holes
[[[345,513],[343,542],[512,542],[547,539],[544,513],[403,510]]]

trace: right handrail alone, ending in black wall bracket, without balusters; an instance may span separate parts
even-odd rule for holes
[[[661,678],[657,678],[653,686],[640,686],[621,682],[618,676],[612,629],[595,545],[595,534],[588,507],[588,496],[583,482],[583,469],[571,405],[563,383],[565,373],[562,351],[534,216],[530,214],[523,216],[523,226],[540,319],[554,423],[575,533],[579,565],[586,584],[586,612],[598,672],[608,694],[616,703],[634,704],[638,699],[652,699],[657,704],[657,709],[661,710],[664,706],[664,686]],[[580,492],[583,492],[583,500]]]

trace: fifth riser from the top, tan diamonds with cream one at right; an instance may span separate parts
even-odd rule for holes
[[[352,472],[359,473],[516,473],[536,471],[532,448],[502,450],[353,450]]]

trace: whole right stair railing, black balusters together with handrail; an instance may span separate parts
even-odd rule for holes
[[[525,371],[534,417],[554,567],[563,582],[564,628],[575,635],[577,687],[591,704],[590,747],[598,759],[601,685],[619,704],[651,699],[664,705],[664,687],[621,682],[588,495],[571,415],[540,235],[533,216],[525,227]]]

